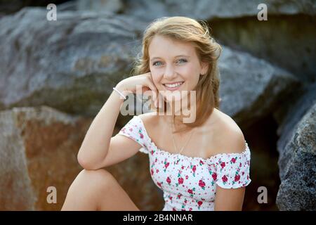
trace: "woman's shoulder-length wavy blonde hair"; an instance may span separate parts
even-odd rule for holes
[[[181,129],[181,131],[202,125],[213,112],[213,108],[219,108],[220,79],[217,62],[222,51],[220,45],[211,37],[209,27],[203,20],[181,16],[158,18],[145,29],[143,47],[132,70],[133,75],[150,72],[148,49],[154,35],[189,42],[195,47],[200,64],[204,62],[209,65],[206,74],[199,76],[199,82],[195,87],[197,98],[196,120],[187,123],[186,128]]]

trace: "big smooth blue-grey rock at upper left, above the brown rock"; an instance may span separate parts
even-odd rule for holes
[[[0,107],[96,115],[131,70],[140,22],[112,13],[23,8],[0,20]]]

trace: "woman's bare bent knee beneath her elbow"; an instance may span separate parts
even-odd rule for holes
[[[72,182],[61,210],[139,211],[114,176],[105,169],[82,170]]]

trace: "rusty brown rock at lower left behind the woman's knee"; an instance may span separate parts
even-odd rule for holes
[[[77,153],[91,121],[46,106],[0,112],[0,210],[60,210],[82,169]],[[141,210],[162,209],[147,155],[107,169]],[[57,204],[47,203],[49,186],[57,190]]]

